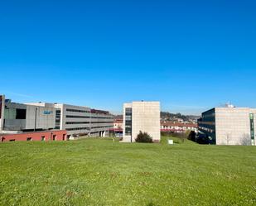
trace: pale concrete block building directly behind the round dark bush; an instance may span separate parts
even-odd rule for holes
[[[123,104],[123,141],[135,141],[140,131],[147,132],[153,141],[160,141],[159,102]]]

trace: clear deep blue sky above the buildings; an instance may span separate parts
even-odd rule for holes
[[[256,1],[1,1],[0,93],[122,111],[256,108]]]

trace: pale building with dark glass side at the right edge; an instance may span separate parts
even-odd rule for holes
[[[213,108],[198,120],[200,136],[210,144],[255,145],[255,108]]]

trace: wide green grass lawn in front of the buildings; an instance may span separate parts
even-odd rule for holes
[[[166,141],[1,143],[0,205],[256,205],[256,147]]]

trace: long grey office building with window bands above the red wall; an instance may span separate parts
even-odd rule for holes
[[[65,130],[69,139],[105,137],[114,127],[114,117],[107,111],[63,103],[12,103],[2,98],[2,132]]]

